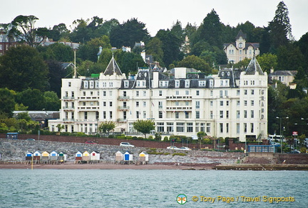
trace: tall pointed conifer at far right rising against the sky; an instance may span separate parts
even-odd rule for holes
[[[287,45],[289,40],[292,39],[289,11],[283,1],[279,2],[274,19],[270,21],[268,28],[270,30],[272,50],[277,49],[281,45]]]

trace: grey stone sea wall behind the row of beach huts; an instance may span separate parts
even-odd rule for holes
[[[79,138],[80,139],[80,138]],[[145,148],[138,146],[135,148],[126,148],[116,145],[104,144],[86,144],[86,143],[71,143],[71,142],[56,142],[56,141],[26,141],[21,139],[0,139],[1,160],[25,160],[26,153],[36,150],[56,152],[63,151],[68,155],[68,161],[75,160],[77,151],[93,150],[101,153],[101,160],[113,163],[116,160],[116,152],[118,150],[125,153],[129,150],[133,153],[133,160],[138,160],[138,155],[141,151],[146,151],[149,154],[149,163],[183,163],[183,164],[220,164],[220,163],[235,163],[238,158],[242,158],[244,153],[230,152],[212,152],[206,150],[168,150],[166,148]],[[160,142],[158,142],[160,143]],[[185,153],[186,155],[173,155],[174,153]]]

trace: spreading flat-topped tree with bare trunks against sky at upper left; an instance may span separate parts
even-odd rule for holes
[[[46,28],[34,28],[36,20],[39,20],[36,16],[23,16],[19,15],[11,22],[13,28],[11,29],[11,35],[15,35],[19,41],[24,41],[31,47],[39,45],[43,38],[48,34]]]

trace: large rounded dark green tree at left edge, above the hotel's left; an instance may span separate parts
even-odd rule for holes
[[[21,92],[48,88],[48,67],[36,50],[27,45],[11,47],[0,57],[0,87]]]

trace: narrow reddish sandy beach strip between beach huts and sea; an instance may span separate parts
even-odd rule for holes
[[[0,169],[31,169],[31,164],[0,164]],[[212,165],[160,165],[160,164],[147,164],[147,165],[121,165],[110,163],[96,163],[96,164],[74,164],[67,162],[61,165],[51,164],[34,164],[33,169],[57,169],[57,170],[210,170]]]

